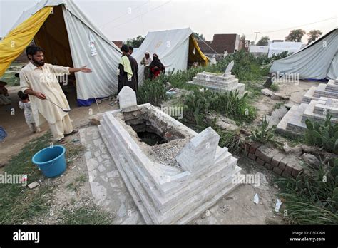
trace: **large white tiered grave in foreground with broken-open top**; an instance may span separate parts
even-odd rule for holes
[[[147,224],[188,223],[238,185],[212,128],[195,133],[149,103],[106,112],[98,130]]]

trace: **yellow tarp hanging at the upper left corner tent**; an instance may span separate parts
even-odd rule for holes
[[[36,33],[51,14],[53,7],[44,7],[0,41],[0,76],[4,74],[7,68],[11,65],[24,49],[29,46]]]

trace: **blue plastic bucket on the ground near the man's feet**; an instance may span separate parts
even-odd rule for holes
[[[40,150],[31,161],[34,165],[38,165],[46,177],[58,177],[67,167],[65,153],[66,148],[62,145],[53,145]]]

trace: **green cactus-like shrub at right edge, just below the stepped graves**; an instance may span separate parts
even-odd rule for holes
[[[338,123],[331,123],[332,115],[327,114],[324,123],[305,120],[307,130],[305,130],[305,142],[308,145],[316,145],[324,148],[329,153],[338,154]]]

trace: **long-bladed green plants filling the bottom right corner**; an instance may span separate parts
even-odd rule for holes
[[[334,167],[308,167],[307,174],[279,178],[290,224],[338,224],[338,159]]]

